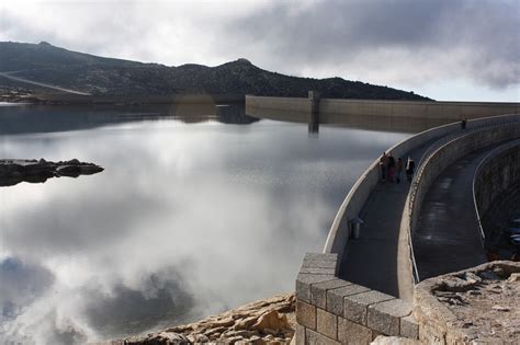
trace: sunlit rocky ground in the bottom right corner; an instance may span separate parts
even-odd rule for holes
[[[520,344],[520,263],[427,279],[416,287],[415,304],[422,344]]]

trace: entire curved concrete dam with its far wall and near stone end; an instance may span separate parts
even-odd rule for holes
[[[420,131],[387,149],[415,160],[412,181],[382,183],[377,158],[344,198],[323,253],[305,254],[296,278],[297,344],[369,344],[377,335],[467,341],[464,330],[431,321],[446,317],[430,314],[421,281],[488,262],[482,220],[520,183],[519,107],[246,96],[248,114],[308,123],[309,131],[334,123]],[[507,269],[520,272],[515,267]]]

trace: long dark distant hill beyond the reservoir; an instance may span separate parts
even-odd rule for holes
[[[16,78],[88,92],[94,95],[255,94],[307,96],[318,90],[324,97],[429,100],[392,88],[341,78],[298,78],[270,72],[246,59],[216,67],[168,67],[98,57],[48,43],[0,42],[0,72]],[[0,87],[12,85],[0,78]],[[38,87],[36,87],[38,88]],[[50,92],[50,90],[49,90]]]

